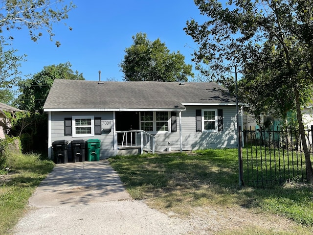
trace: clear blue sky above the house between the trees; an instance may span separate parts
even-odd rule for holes
[[[69,2],[65,0],[66,2]],[[157,38],[172,51],[191,62],[197,45],[183,28],[192,18],[203,19],[193,0],[73,0],[77,6],[69,18],[54,24],[53,42],[47,34],[34,43],[27,31],[15,31],[13,47],[19,54],[26,54],[22,62],[22,78],[42,71],[44,66],[72,64],[73,71],[83,73],[86,80],[114,78],[122,81],[123,73],[118,64],[125,55],[125,48],[133,44],[132,36],[147,34],[150,41]],[[66,23],[67,25],[64,25]],[[68,30],[71,26],[72,31]],[[56,47],[55,41],[61,46]]]

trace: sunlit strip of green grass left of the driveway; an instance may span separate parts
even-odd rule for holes
[[[54,163],[37,154],[12,153],[7,156],[10,173],[0,181],[0,235],[9,234],[26,210],[29,197]]]

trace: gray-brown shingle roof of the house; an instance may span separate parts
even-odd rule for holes
[[[184,109],[183,103],[230,102],[235,99],[216,83],[55,79],[44,109]]]

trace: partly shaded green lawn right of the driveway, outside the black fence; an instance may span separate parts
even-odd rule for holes
[[[119,156],[109,161],[131,196],[158,210],[184,217],[197,207],[245,207],[283,216],[312,232],[312,185],[240,188],[237,154],[237,149],[211,149],[191,155]]]

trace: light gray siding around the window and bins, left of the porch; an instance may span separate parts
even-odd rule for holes
[[[64,136],[64,118],[72,118],[72,116],[94,116],[94,118],[100,118],[102,120],[113,120],[112,112],[52,112],[51,113],[51,146],[53,141],[66,140],[68,143],[73,140],[98,139],[100,140],[100,159],[105,159],[114,156],[113,145],[113,126],[110,133],[102,135],[94,135],[93,137],[72,137]],[[51,156],[53,156],[53,150],[51,148]],[[85,149],[86,151],[86,149]],[[70,151],[69,151],[70,152]]]

